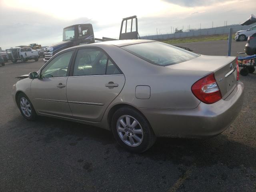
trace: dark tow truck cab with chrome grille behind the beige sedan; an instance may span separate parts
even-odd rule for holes
[[[94,43],[94,32],[92,24],[76,24],[63,29],[62,42],[53,44],[44,51],[44,62],[47,62],[54,54],[63,49]]]

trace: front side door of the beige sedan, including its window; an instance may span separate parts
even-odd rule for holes
[[[72,117],[66,97],[66,84],[73,52],[71,50],[54,57],[41,70],[40,78],[32,80],[32,100],[40,114]]]

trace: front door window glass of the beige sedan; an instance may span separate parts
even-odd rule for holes
[[[66,76],[72,54],[73,51],[69,51],[56,56],[43,68],[41,78]]]

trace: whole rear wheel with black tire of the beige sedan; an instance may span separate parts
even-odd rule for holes
[[[156,141],[148,120],[131,107],[122,107],[114,112],[111,129],[118,144],[129,152],[142,153]]]

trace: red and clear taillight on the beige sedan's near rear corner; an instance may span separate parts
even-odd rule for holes
[[[192,85],[191,90],[196,98],[206,104],[215,103],[222,98],[214,73],[195,82]]]

